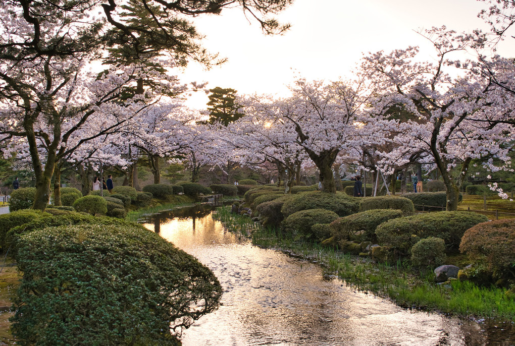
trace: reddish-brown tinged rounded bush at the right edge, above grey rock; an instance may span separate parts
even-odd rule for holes
[[[515,219],[471,227],[465,231],[459,249],[475,264],[487,263],[494,277],[515,281]]]

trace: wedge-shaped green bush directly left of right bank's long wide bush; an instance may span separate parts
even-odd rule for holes
[[[376,241],[375,229],[383,222],[402,216],[401,210],[371,209],[337,218],[330,225],[336,241]]]

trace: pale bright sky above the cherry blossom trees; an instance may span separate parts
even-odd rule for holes
[[[209,71],[191,63],[179,78],[207,81],[208,88],[233,88],[239,95],[285,95],[294,70],[308,80],[350,77],[363,52],[417,45],[427,60],[434,60],[430,43],[415,30],[442,25],[458,32],[488,30],[477,18],[482,8],[486,4],[475,0],[295,0],[277,16],[291,29],[271,37],[241,10],[224,10],[194,23],[205,35],[204,47],[228,62]],[[513,39],[503,42],[499,53],[515,56]],[[199,95],[188,105],[203,108],[207,101]]]

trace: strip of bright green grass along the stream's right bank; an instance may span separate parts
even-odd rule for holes
[[[515,301],[505,295],[503,288],[478,287],[457,280],[437,285],[432,270],[412,268],[407,261],[374,263],[369,258],[319,244],[294,241],[290,234],[264,228],[247,216],[231,214],[229,208],[218,208],[216,215],[229,230],[243,235],[250,232],[254,245],[283,250],[320,263],[328,275],[337,275],[348,286],[388,297],[400,306],[515,321]]]

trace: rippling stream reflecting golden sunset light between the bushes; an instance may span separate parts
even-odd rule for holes
[[[253,247],[210,213],[185,208],[145,224],[210,267],[224,287],[222,306],[184,332],[185,346],[515,344],[512,324],[496,334],[492,326],[354,292],[318,265]]]

